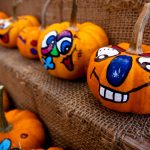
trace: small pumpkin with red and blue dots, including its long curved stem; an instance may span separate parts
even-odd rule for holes
[[[31,58],[31,59],[37,59],[39,58],[38,52],[37,52],[37,43],[40,36],[40,33],[45,28],[45,14],[47,7],[50,4],[50,0],[46,0],[44,7],[42,9],[42,23],[40,26],[34,26],[34,27],[26,27],[24,28],[18,35],[17,38],[17,47],[24,57]]]

